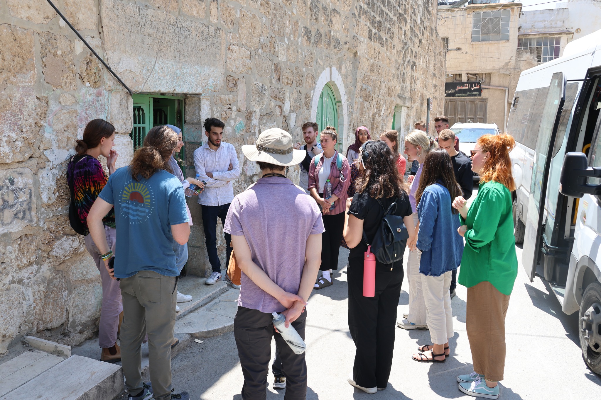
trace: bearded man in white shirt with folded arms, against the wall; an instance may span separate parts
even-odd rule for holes
[[[194,151],[194,167],[200,175],[199,181],[205,181],[204,191],[198,195],[198,204],[203,215],[203,227],[209,262],[213,272],[205,282],[213,285],[221,279],[221,261],[217,254],[217,218],[225,224],[225,217],[234,199],[232,182],[240,177],[240,163],[236,149],[230,143],[222,142],[225,124],[217,118],[204,120],[204,134],[207,142]],[[230,263],[231,236],[224,233],[227,258]]]

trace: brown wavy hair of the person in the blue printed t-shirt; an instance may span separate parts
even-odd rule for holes
[[[159,125],[148,131],[144,138],[144,145],[133,154],[130,172],[132,178],[138,181],[141,175],[144,179],[150,179],[158,170],[166,170],[171,173],[167,161],[177,146],[177,134],[165,125]]]

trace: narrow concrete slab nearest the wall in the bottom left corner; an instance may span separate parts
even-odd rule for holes
[[[8,360],[0,365],[0,396],[27,383],[63,360],[63,357],[39,350],[26,351]]]

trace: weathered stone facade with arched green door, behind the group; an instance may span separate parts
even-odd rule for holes
[[[301,139],[326,83],[343,148],[354,129],[403,133],[444,107],[436,5],[410,0],[56,0],[135,92],[185,96],[186,161],[215,116],[224,140],[254,143],[268,127]],[[99,274],[69,227],[65,170],[93,118],[117,128],[118,164],[133,149],[132,97],[44,0],[0,0],[0,354],[29,333],[67,344],[97,329]],[[236,193],[257,179],[243,160]],[[193,169],[189,167],[189,175]],[[297,172],[294,173],[296,175]],[[189,272],[208,267],[191,204]],[[220,243],[223,252],[223,244]],[[44,331],[44,332],[42,332]]]

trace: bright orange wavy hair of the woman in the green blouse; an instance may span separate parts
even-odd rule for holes
[[[490,153],[490,157],[480,171],[480,181],[495,181],[504,185],[510,192],[516,190],[516,182],[513,181],[513,175],[511,175],[511,159],[509,158],[509,152],[516,146],[513,136],[507,133],[483,135],[476,143],[483,152]]]

